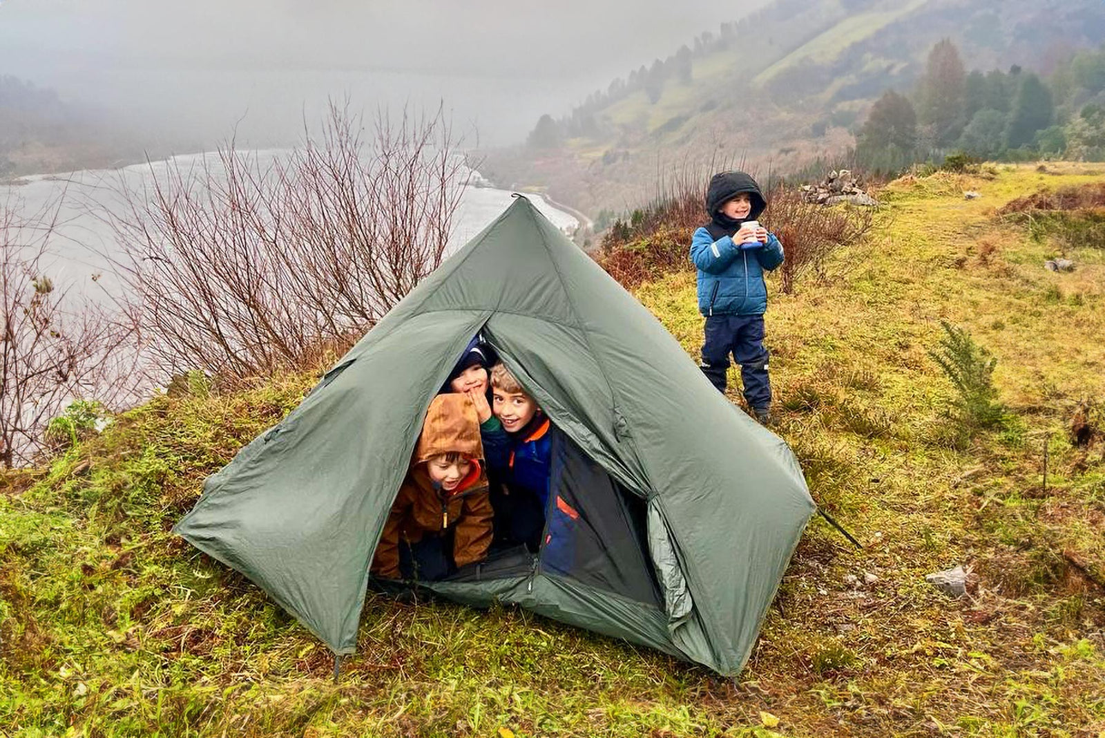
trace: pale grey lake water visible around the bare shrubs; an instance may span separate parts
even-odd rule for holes
[[[256,158],[264,170],[284,150],[246,152]],[[90,295],[110,292],[109,256],[119,253],[116,236],[108,224],[108,213],[124,212],[120,186],[130,192],[149,191],[155,180],[165,180],[170,167],[182,170],[204,162],[218,169],[218,155],[191,154],[165,161],[134,165],[120,169],[84,170],[65,175],[38,175],[22,178],[24,184],[0,186],[0,207],[13,208],[20,215],[36,219],[56,213],[56,226],[50,239],[51,260],[48,273],[56,284],[71,285],[77,293]],[[473,181],[483,181],[478,173]],[[551,207],[539,196],[529,196],[537,209],[557,228],[571,232],[577,220]],[[453,217],[453,233],[449,251],[463,246],[472,236],[502,213],[512,202],[511,192],[491,187],[465,189]],[[23,236],[24,239],[28,235]],[[93,275],[103,275],[94,287]]]

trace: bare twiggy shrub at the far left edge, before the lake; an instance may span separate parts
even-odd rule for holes
[[[54,221],[0,204],[0,466],[33,461],[72,400],[125,394],[128,335],[48,276]]]

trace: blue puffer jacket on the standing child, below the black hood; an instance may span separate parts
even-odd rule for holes
[[[705,228],[694,232],[691,261],[698,267],[698,312],[703,315],[762,315],[767,310],[764,272],[782,263],[782,244],[768,234],[760,247],[741,249]]]

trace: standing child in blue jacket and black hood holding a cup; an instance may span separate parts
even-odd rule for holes
[[[709,222],[691,241],[691,261],[698,270],[698,310],[706,318],[702,371],[725,392],[732,354],[740,365],[745,400],[765,423],[771,419],[771,383],[764,348],[764,272],[782,263],[782,244],[759,223],[745,223],[755,221],[766,207],[750,176],[718,172],[706,190]]]

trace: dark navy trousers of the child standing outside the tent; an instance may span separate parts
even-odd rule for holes
[[[748,407],[770,408],[771,382],[767,376],[762,315],[711,315],[706,318],[702,371],[722,392],[726,387],[725,372],[729,368],[730,354],[740,365]]]

